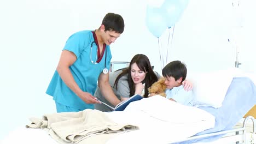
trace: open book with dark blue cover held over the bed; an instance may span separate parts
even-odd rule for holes
[[[129,99],[125,100],[125,101],[121,101],[121,103],[119,103],[117,106],[112,107],[106,103],[103,103],[101,100],[98,100],[101,102],[101,104],[104,104],[106,106],[108,106],[110,109],[114,110],[114,111],[123,111],[125,109],[125,107],[127,105],[129,105],[132,101],[137,101],[137,100],[141,100],[143,97],[141,97],[141,95],[133,95],[132,97],[130,97]]]

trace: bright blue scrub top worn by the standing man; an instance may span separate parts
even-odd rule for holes
[[[95,61],[97,55],[96,44],[92,45],[94,41],[92,31],[80,31],[71,35],[68,38],[66,45],[63,50],[71,51],[77,56],[77,61],[69,67],[77,85],[84,92],[88,92],[94,95],[98,76],[105,68],[105,57],[106,51],[101,61],[97,64],[91,63]],[[107,57],[106,57],[106,68],[109,70],[110,61],[112,58],[110,47],[106,45]],[[94,109],[94,104],[86,104],[80,99],[66,84],[62,81],[60,75],[55,71],[53,78],[46,90],[46,94],[53,96],[53,99],[62,105],[74,107],[76,109]]]

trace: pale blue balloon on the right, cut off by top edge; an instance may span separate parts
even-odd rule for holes
[[[185,7],[187,7],[187,0],[182,0],[182,3],[178,0],[165,0],[161,9],[168,28],[174,26],[179,20]]]

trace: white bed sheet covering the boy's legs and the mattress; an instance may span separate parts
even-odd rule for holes
[[[139,130],[119,134],[108,140],[108,144],[171,143],[213,128],[215,123],[215,118],[210,113],[178,104],[159,95],[135,101],[125,111],[106,112],[106,115],[117,123],[139,125]],[[26,129],[24,126],[12,131],[2,143],[57,142],[44,130]]]

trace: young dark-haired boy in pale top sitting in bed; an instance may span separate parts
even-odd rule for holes
[[[187,68],[181,61],[168,63],[162,69],[162,76],[165,77],[166,98],[176,101],[177,103],[193,106],[193,92],[185,91],[182,82],[186,79]]]

